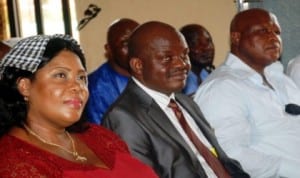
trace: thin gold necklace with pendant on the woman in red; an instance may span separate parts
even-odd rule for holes
[[[76,151],[76,147],[75,147],[74,140],[73,140],[73,138],[71,137],[71,135],[69,134],[69,132],[65,131],[66,135],[68,136],[68,138],[70,139],[70,141],[71,141],[71,143],[72,143],[72,149],[73,149],[73,151],[70,151],[70,150],[64,148],[64,147],[61,146],[61,145],[58,145],[58,144],[55,144],[55,143],[51,143],[51,142],[46,141],[45,139],[43,139],[42,137],[40,137],[37,133],[35,133],[33,130],[31,130],[26,124],[24,124],[24,128],[25,128],[31,135],[35,136],[35,137],[36,137],[38,140],[40,140],[41,142],[43,142],[43,143],[45,143],[45,144],[47,144],[47,145],[55,146],[55,147],[57,147],[57,148],[60,148],[60,149],[62,149],[62,150],[64,150],[64,151],[66,151],[67,153],[72,154],[72,155],[74,156],[74,158],[75,158],[76,161],[82,161],[82,162],[83,162],[83,161],[86,161],[86,160],[87,160],[86,157],[80,156],[80,155],[78,154],[78,152]]]

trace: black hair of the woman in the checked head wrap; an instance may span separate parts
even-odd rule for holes
[[[36,71],[49,63],[62,50],[75,53],[86,69],[83,51],[75,40],[53,37],[45,45],[40,63],[34,72],[20,69],[21,67],[16,65],[13,67],[5,66],[3,69],[0,80],[0,136],[7,133],[13,126],[23,127],[26,120],[27,104],[17,88],[17,82],[20,78],[34,80]],[[38,47],[43,48],[43,46]],[[78,122],[68,127],[67,130],[81,132],[87,128],[86,126],[86,119],[81,117]]]

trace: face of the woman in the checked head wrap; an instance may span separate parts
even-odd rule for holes
[[[28,120],[59,127],[79,120],[89,93],[87,72],[75,53],[61,51],[36,72],[35,79],[23,80]]]

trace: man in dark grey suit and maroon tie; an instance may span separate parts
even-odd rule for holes
[[[191,67],[188,52],[174,27],[155,21],[139,26],[128,42],[132,80],[104,115],[103,125],[119,134],[132,154],[161,178],[249,177],[220,148],[196,103],[177,93]],[[217,171],[180,125],[177,117],[182,115],[173,112],[170,100],[176,100],[195,137],[211,150],[210,157],[214,154]]]

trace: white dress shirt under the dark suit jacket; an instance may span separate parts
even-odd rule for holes
[[[193,150],[193,152],[195,153],[195,155],[197,156],[199,162],[201,163],[203,169],[205,170],[205,173],[207,174],[207,176],[209,178],[217,178],[215,173],[213,172],[213,170],[209,167],[209,165],[206,163],[206,161],[204,160],[204,158],[200,155],[200,153],[197,151],[197,149],[195,148],[195,146],[193,145],[193,143],[190,141],[190,139],[188,138],[188,136],[186,135],[186,133],[184,132],[184,130],[182,129],[181,125],[178,122],[177,117],[175,116],[173,110],[168,107],[168,104],[172,99],[175,99],[174,94],[172,94],[170,97],[159,93],[157,91],[154,91],[150,88],[147,88],[146,86],[144,86],[143,84],[141,84],[138,80],[136,80],[135,78],[133,78],[133,80],[136,82],[136,84],[141,87],[147,94],[149,94],[154,101],[160,106],[160,108],[165,112],[165,114],[168,116],[168,118],[170,119],[170,121],[172,122],[172,124],[174,125],[174,127],[176,128],[176,130],[180,133],[180,135],[183,137],[183,139],[185,140],[185,142],[189,145],[189,147]],[[209,144],[209,142],[207,141],[207,139],[204,137],[204,135],[202,134],[202,132],[200,131],[200,129],[197,127],[195,121],[192,119],[192,117],[187,113],[187,111],[180,106],[180,104],[177,102],[177,104],[179,105],[179,107],[181,108],[184,117],[186,118],[188,124],[190,125],[190,127],[192,128],[192,130],[197,133],[197,136],[199,137],[199,139],[203,142],[203,144],[205,146],[207,146],[210,150],[212,149],[212,146]]]

